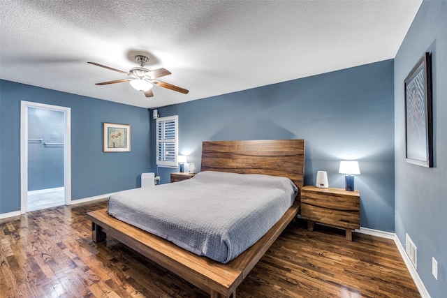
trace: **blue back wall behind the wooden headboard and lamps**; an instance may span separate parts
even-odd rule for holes
[[[305,184],[312,185],[316,172],[325,170],[330,186],[344,188],[339,161],[358,160],[361,226],[393,232],[393,108],[393,60],[388,60],[161,107],[159,114],[179,115],[179,152],[196,169],[207,140],[304,138]],[[169,172],[159,167],[162,183]]]

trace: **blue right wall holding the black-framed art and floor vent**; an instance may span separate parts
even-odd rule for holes
[[[404,80],[432,52],[434,167],[405,163]],[[395,57],[395,225],[418,248],[418,275],[432,297],[447,293],[447,1],[423,1]],[[438,262],[438,281],[432,276]]]

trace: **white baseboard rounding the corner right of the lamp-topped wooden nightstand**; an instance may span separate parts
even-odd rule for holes
[[[425,288],[423,281],[420,279],[418,271],[411,264],[411,260],[408,257],[408,255],[406,255],[404,246],[402,246],[402,243],[400,243],[399,237],[397,237],[397,235],[395,233],[383,232],[383,231],[379,231],[379,230],[373,230],[373,229],[362,228],[362,227],[360,227],[360,230],[356,229],[355,232],[393,240],[397,246],[397,249],[399,250],[400,255],[402,256],[402,259],[404,260],[404,263],[411,275],[411,278],[413,278],[413,281],[416,284],[416,288],[418,288],[420,296],[422,298],[430,298],[430,294],[428,293],[427,289]]]

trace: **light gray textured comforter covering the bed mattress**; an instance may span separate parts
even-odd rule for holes
[[[184,181],[115,193],[108,212],[226,263],[261,239],[297,193],[286,177],[206,171]]]

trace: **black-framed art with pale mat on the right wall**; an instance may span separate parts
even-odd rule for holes
[[[433,167],[431,58],[425,53],[404,81],[405,161],[423,167]]]

